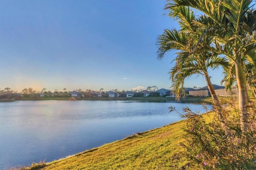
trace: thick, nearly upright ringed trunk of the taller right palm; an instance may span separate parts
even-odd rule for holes
[[[243,132],[247,132],[249,129],[248,116],[246,112],[246,105],[248,104],[248,94],[246,87],[246,77],[244,69],[242,67],[241,59],[236,59],[236,81],[238,85],[238,101],[239,101],[239,114],[240,114],[240,125]]]

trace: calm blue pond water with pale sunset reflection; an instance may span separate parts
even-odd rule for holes
[[[0,103],[0,169],[50,162],[180,120],[168,107],[201,105],[139,101]]]

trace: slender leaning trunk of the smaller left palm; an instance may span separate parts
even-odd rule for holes
[[[226,115],[222,114],[222,107],[220,105],[220,101],[218,99],[218,96],[215,93],[214,87],[212,85],[212,82],[210,80],[210,77],[209,77],[207,71],[204,71],[204,77],[205,77],[205,80],[206,80],[207,87],[208,87],[208,89],[209,89],[209,91],[212,95],[213,103],[217,107],[218,116],[219,116],[222,128],[225,130],[226,135],[229,135],[230,134],[230,129],[226,126]]]

